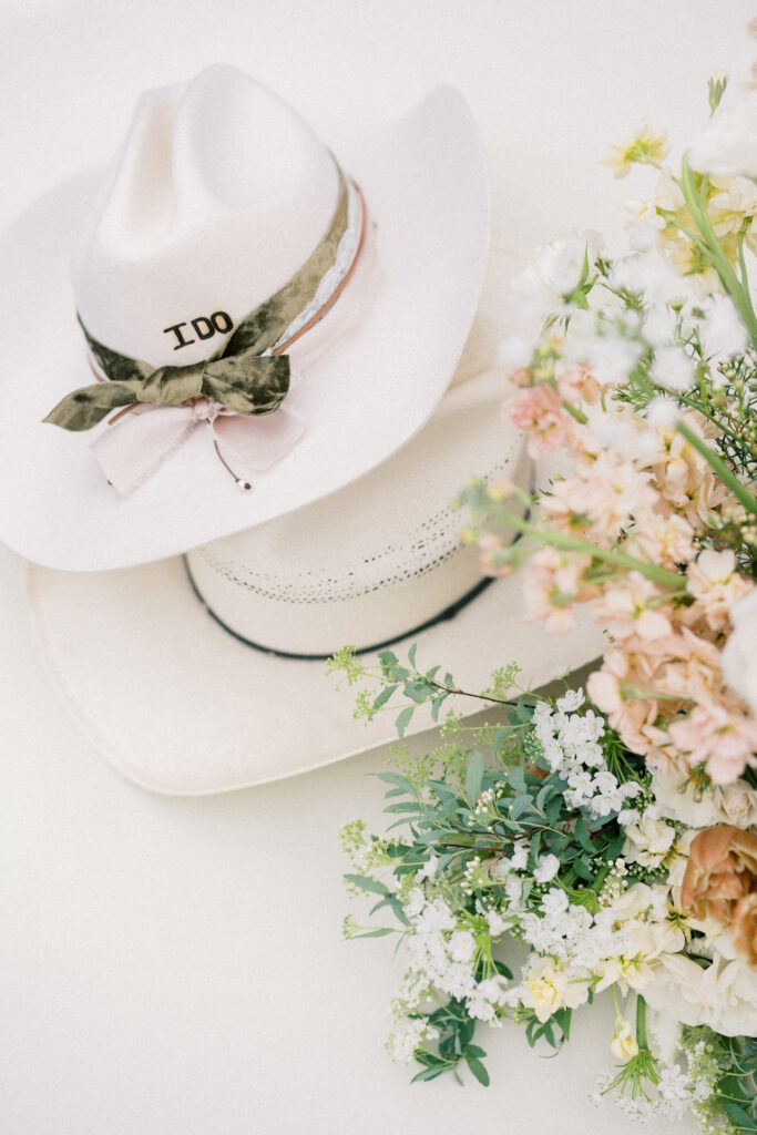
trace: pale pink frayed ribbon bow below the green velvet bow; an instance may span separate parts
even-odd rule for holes
[[[243,488],[243,471],[262,473],[284,457],[302,437],[304,423],[280,406],[270,414],[235,414],[218,402],[201,400],[182,406],[140,406],[109,426],[92,443],[100,468],[121,496],[128,496],[205,423],[219,455]],[[234,466],[234,470],[230,466]]]

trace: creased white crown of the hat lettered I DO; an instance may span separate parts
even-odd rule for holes
[[[74,253],[82,320],[154,367],[207,359],[227,323],[215,328],[213,313],[236,326],[286,284],[322,238],[337,193],[327,146],[236,68],[150,91]]]

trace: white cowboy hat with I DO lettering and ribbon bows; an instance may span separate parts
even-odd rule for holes
[[[327,141],[241,72],[210,67],[148,92],[113,167],[54,190],[5,235],[0,477],[23,488],[0,495],[0,539],[77,571],[176,555],[325,497],[423,426],[486,263],[476,126],[440,87],[369,137],[342,124]],[[235,401],[245,363],[252,414]],[[204,395],[194,411],[149,406],[79,431],[92,398],[102,413],[103,398],[144,401],[144,384],[118,397],[118,379],[155,386],[178,368],[173,401]],[[167,396],[163,382],[151,401]],[[194,429],[213,417],[213,436]]]

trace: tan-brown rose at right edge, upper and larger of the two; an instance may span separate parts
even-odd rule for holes
[[[695,835],[681,884],[681,906],[695,918],[727,926],[740,899],[757,892],[757,836],[718,824]]]

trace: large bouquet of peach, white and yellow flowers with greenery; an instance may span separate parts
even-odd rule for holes
[[[723,99],[675,170],[644,127],[616,176],[653,167],[630,250],[594,235],[542,249],[515,281],[535,342],[504,345],[505,406],[548,489],[472,482],[463,538],[482,570],[520,568],[548,633],[589,604],[607,647],[586,691],[520,689],[516,662],[466,693],[386,650],[331,661],[358,713],[445,709],[440,743],[380,774],[393,823],[343,829],[346,880],[395,935],[406,973],[390,1054],[415,1079],[489,1083],[480,1025],[560,1048],[611,990],[599,1102],[639,1118],[692,1109],[708,1133],[757,1130],[757,90]],[[722,101],[723,100],[723,101]],[[518,533],[518,539],[513,537]],[[371,682],[376,684],[371,688]],[[494,723],[445,706],[474,697]],[[454,704],[454,703],[453,703]],[[586,1011],[586,1010],[584,1010]]]

